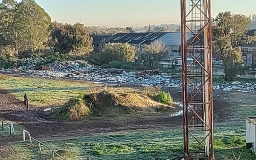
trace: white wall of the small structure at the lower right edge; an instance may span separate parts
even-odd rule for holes
[[[245,124],[245,128],[246,128],[246,143],[254,143],[254,153],[256,153],[256,133],[255,133],[255,125],[250,122],[249,119],[246,119],[246,124]]]

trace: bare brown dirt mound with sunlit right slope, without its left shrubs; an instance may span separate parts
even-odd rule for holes
[[[84,101],[90,105],[94,116],[109,116],[120,114],[154,113],[174,109],[149,99],[137,93],[118,93],[103,90],[84,95]]]

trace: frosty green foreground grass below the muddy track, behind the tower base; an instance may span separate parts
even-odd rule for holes
[[[182,154],[182,135],[182,129],[176,129],[96,135],[44,143],[56,151],[69,151],[67,160],[84,160],[87,157],[90,160],[166,160]],[[233,151],[237,157],[241,152],[241,160],[255,160],[256,156],[244,148],[244,135],[244,128],[240,126],[215,127],[215,159],[222,160],[221,155],[231,158]],[[44,147],[43,154],[40,154],[38,145],[30,146],[28,142],[12,147],[16,152],[9,160],[49,160],[52,155]]]

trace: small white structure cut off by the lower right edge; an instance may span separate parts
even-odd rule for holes
[[[246,148],[256,153],[256,117],[246,118]]]

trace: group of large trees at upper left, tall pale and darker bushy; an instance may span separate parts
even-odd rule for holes
[[[86,55],[92,49],[92,39],[82,24],[52,23],[48,13],[34,0],[0,3],[2,56],[15,59],[52,52]]]

